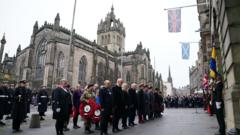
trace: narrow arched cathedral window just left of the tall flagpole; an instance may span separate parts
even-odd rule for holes
[[[64,72],[64,54],[60,52],[57,59],[57,78],[62,79]]]

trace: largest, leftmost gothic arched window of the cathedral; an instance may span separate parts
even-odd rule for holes
[[[36,57],[36,80],[42,80],[44,75],[45,68],[45,59],[47,53],[47,40],[44,40],[37,48],[37,57]]]

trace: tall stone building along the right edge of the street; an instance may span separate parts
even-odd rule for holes
[[[204,3],[205,0],[197,0]],[[240,1],[210,0],[209,6],[199,6],[200,24],[206,23],[208,35],[202,40],[216,45],[217,70],[224,78],[225,122],[227,129],[240,129]],[[205,12],[202,12],[204,11]],[[208,51],[204,51],[208,53]]]

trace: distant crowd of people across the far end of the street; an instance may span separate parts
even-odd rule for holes
[[[164,98],[167,108],[198,108],[204,106],[204,98],[198,94],[189,96],[167,96]]]

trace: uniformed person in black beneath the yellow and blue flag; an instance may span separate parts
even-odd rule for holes
[[[222,90],[223,90],[223,83],[222,82],[217,82],[215,92],[214,92],[214,105],[216,108],[216,116],[218,120],[218,125],[219,125],[219,132],[221,135],[225,135],[225,122],[224,122],[224,102],[223,102],[223,97],[222,97]],[[220,108],[216,107],[216,102],[220,102]]]

